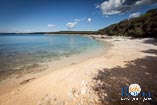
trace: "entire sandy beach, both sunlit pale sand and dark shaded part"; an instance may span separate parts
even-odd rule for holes
[[[113,46],[104,54],[53,72],[28,76],[22,81],[8,80],[12,84],[1,83],[0,105],[117,105],[121,104],[118,97],[121,86],[132,83],[139,83],[146,90],[151,89],[156,99],[155,39],[90,37],[108,41]],[[20,84],[14,86],[19,81]],[[147,104],[155,105],[155,99],[153,104]]]

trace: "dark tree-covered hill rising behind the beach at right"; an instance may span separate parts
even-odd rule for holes
[[[132,37],[157,37],[157,9],[98,30],[98,34]]]

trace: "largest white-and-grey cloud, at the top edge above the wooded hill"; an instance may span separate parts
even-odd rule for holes
[[[157,3],[157,0],[107,0],[97,5],[96,8],[99,8],[103,15],[114,15],[152,3]]]

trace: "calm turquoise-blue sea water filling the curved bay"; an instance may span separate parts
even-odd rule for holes
[[[95,51],[102,42],[80,35],[0,35],[0,76],[18,67]]]

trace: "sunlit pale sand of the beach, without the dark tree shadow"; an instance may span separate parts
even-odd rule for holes
[[[93,78],[100,70],[125,67],[127,62],[146,56],[157,56],[156,53],[145,53],[153,49],[157,51],[156,42],[151,38],[131,39],[127,37],[101,37],[92,35],[98,40],[105,40],[113,46],[105,54],[89,58],[80,63],[65,66],[60,70],[44,74],[38,78],[27,79],[19,87],[5,91],[2,86],[1,105],[83,105],[99,104],[98,95],[92,90]],[[49,70],[52,67],[48,68]],[[138,70],[138,69],[137,69]],[[35,97],[34,97],[35,96]]]

